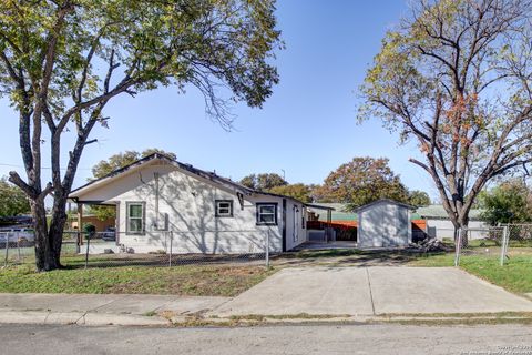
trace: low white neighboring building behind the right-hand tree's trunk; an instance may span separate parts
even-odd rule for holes
[[[482,211],[475,209],[469,212],[468,227],[471,229],[468,233],[469,239],[478,240],[487,237],[489,225],[480,219],[481,212]],[[427,221],[427,234],[430,237],[436,237],[440,241],[442,239],[453,239],[454,225],[449,219],[443,205],[432,204],[430,206],[419,207],[417,214]]]

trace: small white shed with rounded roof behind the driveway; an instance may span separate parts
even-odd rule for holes
[[[406,246],[412,242],[410,211],[415,207],[392,200],[378,200],[359,206],[358,246]]]

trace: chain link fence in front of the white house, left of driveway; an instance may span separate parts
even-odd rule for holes
[[[94,232],[63,233],[61,263],[71,268],[119,266],[181,266],[181,265],[264,265],[269,267],[272,250],[269,232],[256,231],[217,232],[232,233],[238,245],[197,245],[183,248],[183,240],[192,232],[150,233],[145,242],[122,243],[125,233]],[[188,235],[188,236],[187,236]],[[131,237],[131,236],[130,236]],[[151,244],[150,237],[156,241]],[[216,241],[214,241],[216,242]],[[190,246],[190,245],[188,245]],[[268,247],[269,246],[269,247]],[[218,250],[215,250],[215,248]],[[204,252],[200,252],[201,250]],[[34,235],[31,230],[0,232],[0,260],[3,266],[34,264]]]

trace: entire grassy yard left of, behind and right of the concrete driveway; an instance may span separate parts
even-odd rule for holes
[[[492,254],[485,254],[489,247]],[[499,265],[497,245],[474,245],[462,255],[460,267],[508,291],[532,293],[532,248],[511,247],[510,260]],[[14,256],[14,255],[13,255]],[[183,257],[181,261],[186,262]],[[338,248],[286,253],[273,258],[275,270],[293,266],[452,266],[453,253],[423,254],[408,251]],[[164,266],[165,255],[91,256],[84,270],[83,255],[64,255],[66,270],[35,273],[32,257],[23,265],[0,270],[0,292],[8,293],[137,293],[191,296],[235,296],[275,271],[263,265],[216,264]],[[127,266],[125,266],[127,265]]]

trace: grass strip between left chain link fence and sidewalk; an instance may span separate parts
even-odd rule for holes
[[[264,266],[130,266],[37,273],[22,265],[0,271],[6,293],[133,293],[235,296],[274,271]]]

